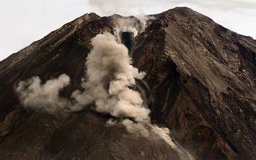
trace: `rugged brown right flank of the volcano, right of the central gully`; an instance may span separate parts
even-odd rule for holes
[[[255,40],[177,7],[136,42],[156,122],[197,159],[256,159]]]

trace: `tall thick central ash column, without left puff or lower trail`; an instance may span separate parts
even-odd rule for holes
[[[150,110],[142,106],[139,92],[129,88],[135,78],[142,79],[145,73],[131,65],[128,49],[110,33],[92,38],[92,46],[85,63],[84,92],[73,92],[72,98],[83,106],[95,102],[96,111],[101,113],[148,121]]]

